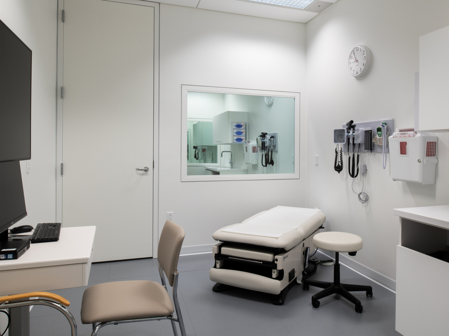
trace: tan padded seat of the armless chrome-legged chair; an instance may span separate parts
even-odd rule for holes
[[[173,303],[163,285],[130,280],[96,284],[84,291],[81,322],[84,324],[168,316]]]

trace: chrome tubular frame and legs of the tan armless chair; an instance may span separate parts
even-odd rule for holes
[[[161,282],[162,285],[164,286],[165,290],[167,290],[167,285],[165,284],[165,276],[162,270],[162,267],[160,264],[158,264],[158,268],[159,268],[159,275],[161,276]],[[119,324],[119,323],[133,323],[133,322],[144,322],[144,321],[154,321],[154,320],[167,320],[169,319],[170,322],[172,323],[172,329],[173,329],[173,335],[178,336],[178,331],[176,330],[176,324],[175,322],[179,323],[179,327],[181,329],[181,336],[186,336],[185,334],[185,327],[184,327],[184,321],[182,319],[182,315],[181,315],[181,309],[179,306],[179,302],[178,302],[178,271],[174,272],[173,275],[173,303],[175,304],[175,311],[176,314],[178,315],[173,316],[173,314],[168,315],[168,316],[158,316],[158,317],[150,317],[147,319],[132,319],[132,320],[121,320],[121,321],[109,321],[109,322],[101,322],[101,323],[92,323],[92,334],[91,336],[97,336],[98,332],[100,331],[100,329],[102,327],[105,327],[107,325],[110,324]]]

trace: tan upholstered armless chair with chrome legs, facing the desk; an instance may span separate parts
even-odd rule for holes
[[[96,284],[84,291],[81,303],[81,322],[92,323],[92,336],[108,324],[169,319],[173,334],[185,336],[184,322],[178,303],[178,259],[185,232],[170,220],[165,222],[158,246],[159,274],[162,284],[154,281],[131,280]],[[164,272],[173,287],[173,303],[167,292]],[[98,323],[98,324],[97,324]]]

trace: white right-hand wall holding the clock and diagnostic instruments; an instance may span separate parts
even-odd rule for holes
[[[354,9],[357,8],[357,15]],[[363,250],[354,257],[396,278],[399,218],[393,208],[448,204],[449,134],[440,133],[435,185],[392,181],[381,154],[369,158],[363,205],[351,191],[345,158],[333,170],[332,130],[349,120],[393,118],[395,127],[414,126],[414,73],[419,69],[419,36],[449,25],[448,1],[339,0],[306,24],[306,206],[326,214],[328,230],[360,235]],[[372,60],[363,78],[347,67],[352,48],[370,47]],[[304,96],[304,95],[303,95]],[[314,164],[319,155],[319,165]],[[354,183],[361,189],[360,178]]]

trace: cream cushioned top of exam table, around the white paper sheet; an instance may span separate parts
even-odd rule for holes
[[[281,207],[279,207],[281,208]],[[289,208],[289,207],[284,207]],[[275,209],[275,208],[273,208]],[[317,209],[307,209],[307,208],[293,208],[299,209],[299,211],[304,210],[304,213],[308,213],[308,217],[304,219],[304,216],[301,219],[297,219],[295,224],[295,228],[282,233],[279,237],[265,237],[265,236],[256,236],[247,233],[237,233],[237,232],[229,232],[228,228],[233,228],[241,224],[247,224],[251,220],[258,218],[267,212],[273,210],[262,211],[254,216],[251,216],[247,220],[244,220],[240,224],[233,224],[226,226],[224,228],[220,228],[215,233],[212,234],[212,238],[217,241],[234,241],[245,244],[252,245],[260,245],[267,247],[275,247],[275,248],[283,248],[285,250],[291,250],[293,247],[298,245],[304,238],[307,238],[312,233],[314,233],[320,226],[326,221],[326,216]],[[312,211],[311,211],[312,210]],[[312,215],[310,215],[312,213]],[[302,220],[302,222],[301,222]],[[285,226],[284,226],[285,228]]]

